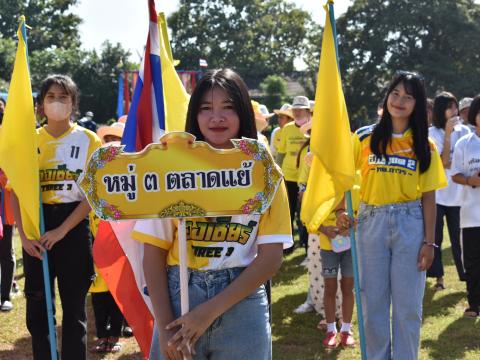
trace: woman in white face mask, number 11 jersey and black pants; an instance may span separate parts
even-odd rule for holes
[[[94,271],[87,219],[90,207],[75,181],[101,142],[95,133],[70,121],[77,100],[77,86],[68,76],[51,75],[41,84],[39,107],[47,124],[37,129],[45,221],[45,233],[40,239],[26,238],[15,196],[13,201],[23,247],[26,321],[34,359],[51,358],[41,260],[45,251],[50,282],[53,285],[57,279],[62,301],[61,357],[86,359],[85,299]],[[52,297],[53,290],[52,286]]]

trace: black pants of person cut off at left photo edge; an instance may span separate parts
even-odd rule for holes
[[[10,301],[13,272],[15,270],[15,253],[12,246],[12,225],[3,225],[3,238],[0,239],[0,282],[1,301]]]

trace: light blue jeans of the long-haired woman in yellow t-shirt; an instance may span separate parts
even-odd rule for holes
[[[360,206],[358,261],[368,360],[418,358],[425,272],[418,271],[417,260],[423,241],[420,201]]]

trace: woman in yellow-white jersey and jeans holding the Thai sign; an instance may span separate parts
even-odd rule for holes
[[[190,98],[186,131],[217,149],[233,148],[231,139],[257,138],[248,91],[238,74],[229,69],[205,73]],[[293,244],[288,218],[281,184],[263,215],[186,219],[191,311],[183,316],[178,221],[137,222],[132,236],[145,243],[145,278],[158,329],[150,359],[233,360],[252,354],[271,359],[263,284],[279,269],[283,248]],[[218,235],[225,231],[228,241]]]

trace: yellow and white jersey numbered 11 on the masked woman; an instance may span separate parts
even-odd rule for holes
[[[58,138],[50,135],[45,127],[37,129],[37,134],[43,203],[81,201],[84,196],[76,181],[90,155],[102,145],[99,137],[76,124]]]

